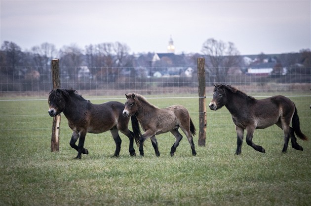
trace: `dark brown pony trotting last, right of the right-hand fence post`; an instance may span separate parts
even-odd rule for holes
[[[237,90],[230,85],[215,85],[213,100],[209,103],[211,110],[217,110],[226,106],[232,115],[233,123],[237,134],[237,148],[235,154],[241,153],[244,130],[246,130],[246,142],[255,150],[265,153],[262,146],[252,141],[255,129],[264,129],[276,124],[284,132],[284,146],[282,152],[286,152],[289,137],[292,147],[303,150],[297,143],[295,134],[308,140],[300,130],[299,117],[295,104],[288,98],[277,95],[263,100],[256,100]],[[290,127],[292,122],[292,127]]]

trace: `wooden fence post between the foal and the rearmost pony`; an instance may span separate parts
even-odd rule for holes
[[[205,146],[206,139],[206,95],[205,95],[205,59],[197,58],[197,78],[199,96],[199,135],[198,145]]]

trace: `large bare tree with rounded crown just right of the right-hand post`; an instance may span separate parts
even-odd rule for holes
[[[240,66],[241,58],[232,42],[225,43],[209,38],[203,43],[201,51],[207,56],[206,72],[211,83],[224,82],[228,70]]]

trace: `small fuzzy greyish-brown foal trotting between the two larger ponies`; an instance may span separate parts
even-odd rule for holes
[[[171,157],[174,155],[179,142],[183,136],[178,129],[185,133],[191,145],[192,154],[196,155],[194,149],[194,141],[192,135],[195,135],[195,127],[190,118],[188,110],[182,105],[173,105],[167,108],[159,109],[155,105],[149,103],[143,96],[138,94],[127,94],[123,116],[136,116],[144,134],[140,137],[139,152],[144,156],[143,144],[150,137],[152,145],[155,149],[156,156],[160,156],[156,135],[171,132],[176,141],[171,147]]]

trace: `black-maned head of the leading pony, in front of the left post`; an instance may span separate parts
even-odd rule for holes
[[[61,112],[64,111],[67,97],[69,96],[69,93],[67,90],[63,89],[55,89],[52,90],[48,96],[48,114],[51,117],[54,117]]]

